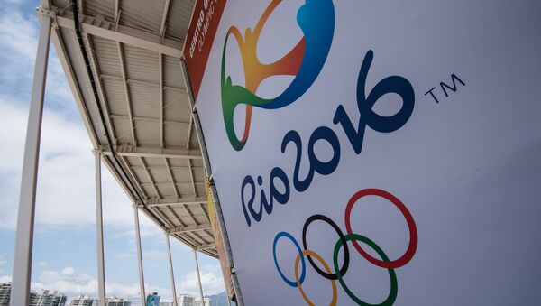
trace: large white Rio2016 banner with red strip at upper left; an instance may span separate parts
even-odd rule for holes
[[[184,56],[247,305],[536,303],[540,2],[201,3]]]

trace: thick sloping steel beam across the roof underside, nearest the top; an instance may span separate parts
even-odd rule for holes
[[[61,16],[57,16],[56,20],[60,27],[74,30],[72,12],[65,11]],[[79,14],[79,20],[81,22],[82,31],[88,34],[166,54],[178,59],[182,56],[183,42],[181,41],[161,38],[160,35],[155,33],[135,29],[122,24],[118,24],[118,27],[116,27],[115,23],[108,22],[104,19],[97,20],[92,16],[84,14]]]

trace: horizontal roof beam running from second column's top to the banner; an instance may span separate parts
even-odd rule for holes
[[[111,150],[105,149],[105,155],[112,155]],[[115,153],[118,156],[132,156],[145,158],[180,158],[200,160],[201,152],[199,150],[184,150],[184,149],[160,149],[136,147],[133,145],[120,145],[115,147]]]

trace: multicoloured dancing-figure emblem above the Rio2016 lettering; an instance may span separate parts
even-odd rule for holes
[[[261,30],[280,2],[281,0],[273,0],[261,15],[253,32],[250,28],[246,29],[244,38],[235,26],[229,29],[225,37],[221,76],[222,108],[225,131],[236,151],[243,149],[250,134],[252,107],[277,109],[295,102],[316,80],[333,42],[335,7],[332,0],[307,0],[297,13],[297,23],[304,37],[280,60],[271,64],[261,63],[257,58],[257,43]],[[231,77],[225,76],[225,49],[230,35],[234,36],[241,51],[246,87],[232,84]],[[295,78],[278,97],[266,99],[255,94],[264,79],[278,75]],[[243,136],[239,139],[234,132],[234,110],[240,104],[246,105],[246,117]]]

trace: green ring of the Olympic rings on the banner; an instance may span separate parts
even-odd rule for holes
[[[370,246],[371,248],[373,248],[374,251],[376,251],[376,253],[378,253],[378,255],[381,256],[381,260],[383,262],[389,263],[389,257],[387,257],[387,255],[385,255],[385,253],[383,252],[381,247],[376,245],[369,238],[367,238],[365,236],[357,235],[357,234],[349,234],[349,235],[345,236],[345,240],[346,241],[352,241],[352,242],[353,241],[354,242],[362,241],[363,243],[365,243],[368,246]],[[338,281],[342,285],[342,288],[344,288],[344,291],[347,293],[347,295],[359,305],[365,305],[365,306],[387,306],[387,305],[392,305],[394,303],[394,301],[397,299],[397,293],[399,292],[397,274],[395,274],[394,269],[387,268],[387,270],[389,271],[389,276],[390,276],[390,292],[389,292],[389,296],[387,297],[387,299],[385,299],[385,301],[381,302],[380,304],[369,304],[369,303],[367,303],[365,301],[362,301],[355,294],[353,294],[353,292],[347,287],[347,285],[344,282],[344,278],[342,278],[342,274],[338,270],[338,252],[340,251],[340,247],[342,247],[342,245],[343,245],[342,240],[338,240],[336,242],[335,252],[333,254],[333,263],[335,264],[335,270],[336,270],[336,275],[338,276]]]

